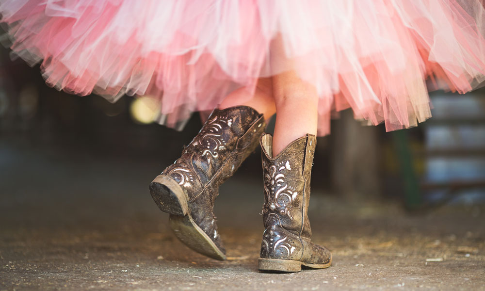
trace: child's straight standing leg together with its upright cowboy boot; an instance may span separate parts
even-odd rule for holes
[[[316,146],[317,91],[300,79],[294,70],[296,63],[286,58],[281,40],[276,38],[271,48],[276,125],[273,138],[263,134],[260,139],[265,230],[258,269],[290,273],[301,271],[302,266],[327,268],[332,263],[332,254],[325,247],[310,242],[307,215]],[[307,136],[307,133],[313,135]],[[287,246],[276,247],[285,240]]]

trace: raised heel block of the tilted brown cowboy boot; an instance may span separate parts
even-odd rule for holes
[[[189,211],[187,194],[178,183],[167,176],[159,175],[150,183],[150,194],[163,212],[184,216]]]

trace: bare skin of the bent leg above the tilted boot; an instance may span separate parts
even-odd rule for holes
[[[271,78],[260,78],[252,97],[249,96],[251,92],[246,90],[246,88],[238,89],[227,95],[219,105],[219,109],[245,105],[254,108],[259,113],[263,113],[264,119],[268,120],[276,112],[272,86]]]

